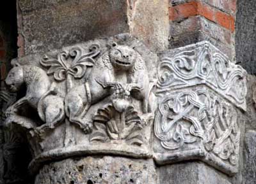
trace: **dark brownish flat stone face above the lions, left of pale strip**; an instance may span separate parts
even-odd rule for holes
[[[21,0],[25,54],[128,32],[125,1]]]

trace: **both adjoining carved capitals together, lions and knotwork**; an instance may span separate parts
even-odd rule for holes
[[[237,173],[246,71],[207,41],[159,59],[120,34],[13,65],[6,84],[26,94],[6,110],[5,125],[26,131],[31,172],[50,160],[100,154],[157,164],[199,159]]]

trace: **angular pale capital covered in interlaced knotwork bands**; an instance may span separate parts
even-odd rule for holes
[[[238,112],[246,110],[244,69],[205,41],[164,53],[158,78],[156,162],[200,159],[237,173],[243,126]]]

